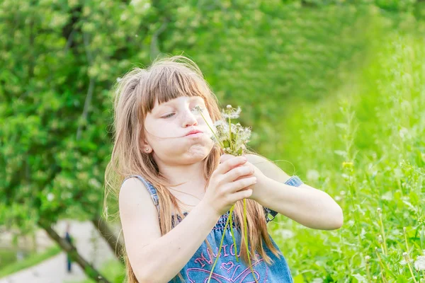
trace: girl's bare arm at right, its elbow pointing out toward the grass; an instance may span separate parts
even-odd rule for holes
[[[341,207],[326,192],[306,184],[285,185],[290,176],[274,163],[252,154],[246,158],[257,168],[251,199],[312,229],[333,230],[342,226]]]

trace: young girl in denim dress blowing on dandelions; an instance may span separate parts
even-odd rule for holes
[[[266,223],[280,213],[313,229],[342,225],[327,193],[261,156],[222,154],[207,125],[220,119],[220,108],[190,59],[135,68],[116,93],[106,183],[119,197],[128,282],[208,282],[217,257],[210,282],[293,282]],[[244,198],[254,272],[241,236]],[[239,260],[230,224],[224,230],[233,204]]]

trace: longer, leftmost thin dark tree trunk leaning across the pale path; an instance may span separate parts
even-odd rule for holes
[[[79,255],[77,248],[71,243],[65,241],[64,238],[59,236],[55,230],[52,229],[50,223],[46,223],[44,221],[38,221],[38,224],[47,232],[47,235],[52,238],[65,252],[68,253],[69,257],[81,267],[82,270],[86,273],[87,277],[93,279],[99,283],[109,283],[107,279],[105,279],[94,267],[84,260],[84,258]]]

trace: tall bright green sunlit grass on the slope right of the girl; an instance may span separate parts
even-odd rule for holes
[[[345,219],[337,231],[316,231],[278,216],[273,236],[296,282],[425,280],[414,268],[425,255],[424,37],[401,27],[371,46],[335,94],[288,108],[284,158]]]

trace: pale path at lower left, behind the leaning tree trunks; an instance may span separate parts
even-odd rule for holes
[[[111,248],[91,222],[69,220],[69,223],[71,224],[70,233],[78,252],[94,267],[99,268],[104,262],[114,258]],[[60,221],[56,224],[55,230],[63,236],[65,227],[66,221]],[[67,255],[60,253],[38,265],[0,278],[0,283],[70,283],[79,282],[85,278],[86,275],[76,263],[72,263],[72,272],[68,273]]]

